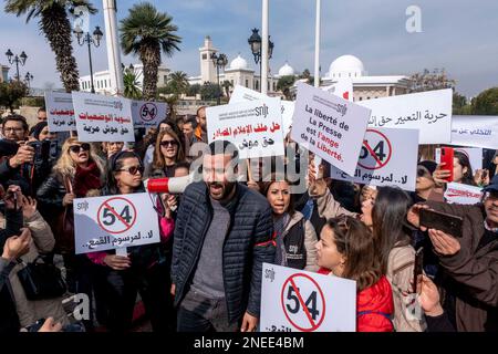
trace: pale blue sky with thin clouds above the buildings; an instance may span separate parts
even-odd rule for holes
[[[2,1],[3,2],[3,1]],[[138,1],[117,0],[118,19]],[[163,64],[189,75],[199,74],[198,48],[209,34],[216,48],[229,60],[241,53],[252,67],[247,39],[253,27],[261,28],[261,0],[167,0],[151,1],[166,11],[178,25],[181,51],[163,56]],[[1,2],[0,2],[1,3]],[[102,9],[102,1],[93,3]],[[422,9],[422,33],[407,33],[405,10]],[[498,86],[498,1],[496,0],[322,0],[322,74],[342,54],[360,58],[369,74],[411,74],[424,67],[445,67],[457,80],[457,91],[474,96]],[[94,25],[104,28],[102,11],[92,17]],[[276,44],[271,70],[277,72],[286,61],[301,72],[313,71],[314,0],[270,0],[270,34]],[[75,46],[80,74],[89,73],[86,48]],[[29,70],[33,86],[45,83],[61,86],[53,54],[38,30],[37,21],[25,24],[0,10],[0,63],[10,48],[29,55],[21,75]],[[93,50],[94,70],[107,66],[105,43]],[[125,64],[138,62],[123,58]],[[12,72],[11,72],[12,74]]]

